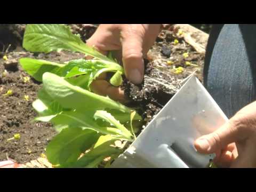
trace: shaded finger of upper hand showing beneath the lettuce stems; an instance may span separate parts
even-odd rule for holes
[[[124,91],[119,87],[114,87],[110,83],[104,80],[96,80],[91,84],[91,89],[94,93],[97,93],[102,96],[108,96],[110,99],[126,103]]]

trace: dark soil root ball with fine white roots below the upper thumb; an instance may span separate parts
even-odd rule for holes
[[[145,62],[147,63],[147,62]],[[147,125],[151,119],[164,107],[164,105],[173,97],[174,91],[168,90],[162,84],[150,81],[147,78],[162,79],[168,82],[175,81],[174,78],[162,71],[154,68],[152,63],[147,63],[145,70],[145,80],[141,85],[134,85],[125,79],[122,89],[125,95],[132,100],[131,107],[137,108],[138,113],[142,116]]]

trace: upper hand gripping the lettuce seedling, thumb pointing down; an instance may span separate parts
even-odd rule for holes
[[[143,57],[153,46],[160,29],[159,24],[100,25],[86,43],[105,55],[108,51],[117,51],[116,57],[123,61],[126,77],[134,84],[140,84],[144,76]],[[105,81],[104,75],[92,83],[92,89],[98,94],[124,101],[123,91]]]

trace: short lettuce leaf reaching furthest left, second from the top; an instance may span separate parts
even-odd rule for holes
[[[42,76],[45,72],[53,71],[56,68],[63,67],[65,65],[31,58],[22,58],[19,60],[21,67],[36,81],[42,82]]]

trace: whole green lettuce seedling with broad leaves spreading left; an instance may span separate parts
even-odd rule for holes
[[[134,141],[136,127],[132,122],[141,121],[141,117],[134,109],[90,89],[93,80],[106,72],[114,73],[112,85],[122,84],[124,69],[111,54],[102,55],[72,34],[69,27],[56,24],[27,25],[23,47],[31,52],[81,52],[94,58],[65,63],[20,59],[22,68],[43,83],[33,102],[38,113],[35,120],[51,122],[59,133],[46,147],[50,163],[57,167],[98,167],[106,157],[123,152],[115,147],[116,140]],[[124,124],[131,125],[131,130]]]

